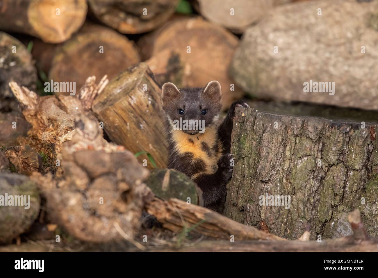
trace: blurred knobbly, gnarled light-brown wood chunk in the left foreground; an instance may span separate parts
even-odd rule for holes
[[[72,139],[63,143],[60,178],[35,173],[50,217],[70,235],[90,242],[133,236],[150,189],[148,170],[124,147],[107,143],[96,118],[76,116]]]

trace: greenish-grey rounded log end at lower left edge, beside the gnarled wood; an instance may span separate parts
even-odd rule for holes
[[[37,186],[28,177],[0,174],[0,243],[10,243],[31,227],[37,219],[39,203]]]

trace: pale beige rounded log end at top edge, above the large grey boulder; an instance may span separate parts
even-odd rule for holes
[[[211,22],[241,34],[246,28],[262,19],[275,6],[293,0],[198,0],[201,15]]]

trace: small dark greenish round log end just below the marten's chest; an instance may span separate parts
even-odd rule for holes
[[[174,169],[154,169],[150,172],[146,185],[160,199],[176,198],[203,206],[201,188],[187,175]]]

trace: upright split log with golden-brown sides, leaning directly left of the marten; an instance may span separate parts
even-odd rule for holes
[[[145,63],[131,67],[111,80],[92,105],[110,140],[134,154],[149,152],[158,168],[166,167],[167,150],[161,87]],[[149,168],[152,163],[146,155]]]

